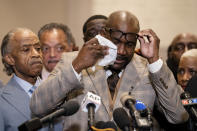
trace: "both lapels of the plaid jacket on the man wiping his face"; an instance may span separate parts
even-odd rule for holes
[[[123,93],[132,91],[134,88],[139,86],[141,83],[140,76],[143,75],[146,70],[144,65],[146,65],[146,60],[142,58],[138,58],[139,56],[134,55],[132,61],[125,68],[121,79],[119,80],[119,88],[117,91],[117,96],[115,98],[115,103],[113,108],[110,106],[110,98],[109,98],[109,89],[106,80],[105,70],[101,66],[95,66],[95,71],[92,71],[91,68],[87,69],[87,73],[89,74],[90,80],[85,80],[87,83],[92,83],[91,86],[87,86],[89,91],[92,91],[90,87],[94,88],[97,95],[101,97],[102,104],[106,109],[109,116],[112,111],[117,107],[122,107],[120,103],[120,97]]]

